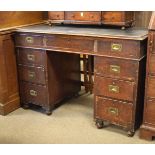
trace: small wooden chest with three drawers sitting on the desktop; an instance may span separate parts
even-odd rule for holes
[[[129,27],[134,22],[132,11],[50,11],[51,23],[114,25]]]

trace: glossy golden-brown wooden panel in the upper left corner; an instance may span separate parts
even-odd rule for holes
[[[43,11],[0,11],[0,29],[41,22],[46,19]]]

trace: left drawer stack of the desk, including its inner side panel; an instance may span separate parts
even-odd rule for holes
[[[80,91],[79,55],[48,52],[44,35],[15,35],[20,97],[23,107],[41,106],[46,114]]]

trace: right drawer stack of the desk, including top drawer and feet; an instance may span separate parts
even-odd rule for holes
[[[146,41],[107,39],[98,43],[95,57],[94,117],[98,128],[105,122],[133,136],[142,122]]]

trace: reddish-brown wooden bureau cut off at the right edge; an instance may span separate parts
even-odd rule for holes
[[[155,12],[153,12],[148,37],[146,91],[143,124],[140,138],[152,140],[155,136]]]

